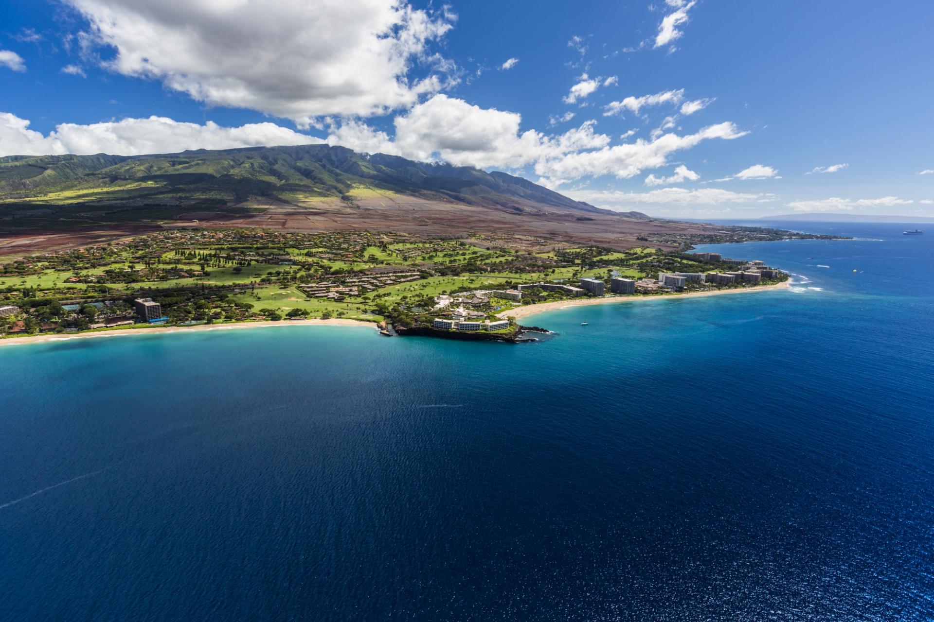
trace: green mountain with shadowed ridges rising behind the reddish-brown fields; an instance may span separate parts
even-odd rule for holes
[[[358,154],[340,146],[248,147],[155,156],[0,159],[0,200],[50,204],[235,205],[384,192],[513,212],[606,212],[506,173]]]

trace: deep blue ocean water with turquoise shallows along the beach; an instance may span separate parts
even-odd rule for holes
[[[934,231],[793,227],[531,344],[0,348],[0,619],[932,619]]]

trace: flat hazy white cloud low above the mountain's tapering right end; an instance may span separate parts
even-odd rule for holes
[[[621,190],[568,190],[564,194],[574,200],[583,200],[591,205],[618,212],[655,209],[682,211],[692,205],[723,205],[730,203],[754,203],[774,200],[773,195],[731,192],[721,188],[699,188],[687,190],[668,187],[649,192],[623,192]]]

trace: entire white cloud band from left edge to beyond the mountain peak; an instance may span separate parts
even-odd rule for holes
[[[326,140],[280,127],[254,123],[224,128],[216,123],[183,123],[165,117],[127,118],[92,125],[61,124],[49,135],[28,129],[29,122],[0,115],[0,155],[92,154],[137,155],[184,149],[220,149],[251,145],[301,145],[326,142],[361,152],[395,154],[421,161],[458,166],[518,170],[531,166],[548,187],[612,174],[629,178],[668,163],[672,153],[711,139],[745,135],[733,123],[708,126],[693,134],[665,133],[651,140],[610,145],[610,136],[587,120],[560,134],[521,131],[522,117],[509,111],[481,108],[436,94],[394,118],[395,135],[374,129],[359,118],[327,119]],[[622,140],[631,132],[623,134]],[[696,173],[675,172],[685,179]]]

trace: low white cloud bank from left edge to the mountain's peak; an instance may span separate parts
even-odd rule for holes
[[[78,125],[62,123],[48,136],[30,130],[29,121],[0,113],[0,156],[44,156],[66,153],[108,153],[135,156],[174,153],[185,149],[229,149],[257,145],[321,143],[314,136],[275,123],[248,123],[225,128],[182,123],[166,117],[124,118],[120,121]]]

